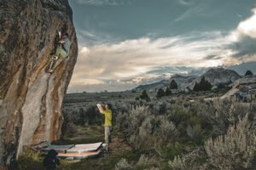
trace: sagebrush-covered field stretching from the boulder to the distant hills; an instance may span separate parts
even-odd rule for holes
[[[104,142],[96,104],[113,105],[110,151],[61,161],[58,169],[255,169],[256,103],[220,100],[226,90],[136,99],[141,93],[67,94],[62,135],[55,144]],[[19,169],[44,169],[26,150]]]

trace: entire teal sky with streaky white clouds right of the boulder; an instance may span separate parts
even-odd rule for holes
[[[123,91],[177,73],[256,61],[255,0],[69,3],[79,58],[68,93]]]

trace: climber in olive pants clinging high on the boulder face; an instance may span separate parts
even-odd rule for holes
[[[55,70],[55,66],[57,62],[61,59],[68,59],[68,53],[70,48],[70,41],[68,39],[68,33],[64,32],[62,33],[62,39],[59,41],[59,44],[56,48],[56,52],[53,55],[52,59],[52,65],[50,65],[49,73],[52,73]]]

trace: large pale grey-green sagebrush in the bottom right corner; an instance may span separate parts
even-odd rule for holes
[[[227,134],[207,140],[205,150],[208,162],[217,169],[253,169],[256,166],[255,128],[247,116],[230,126]]]

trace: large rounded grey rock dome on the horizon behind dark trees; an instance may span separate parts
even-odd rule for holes
[[[207,82],[212,84],[213,88],[217,88],[218,85],[228,85],[232,82],[235,82],[241,76],[236,73],[236,71],[226,70],[224,68],[214,68],[207,71],[205,74],[197,77],[193,82],[190,82],[186,88],[193,90],[195,83],[201,82],[201,78],[205,77]]]

